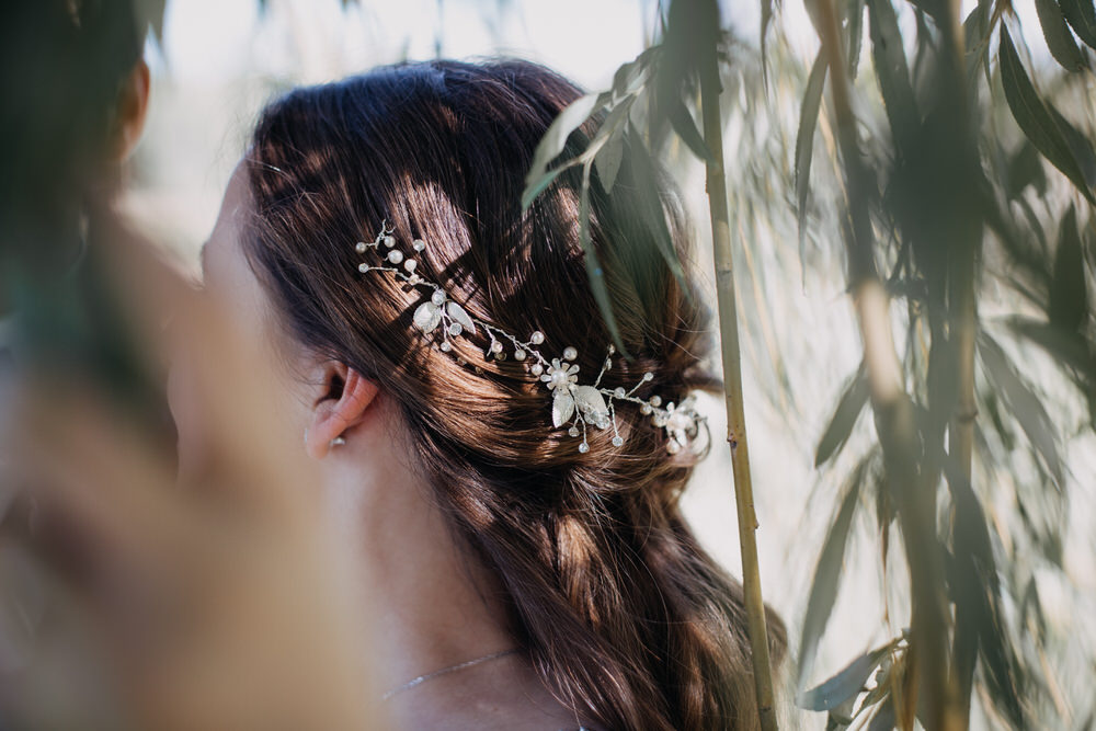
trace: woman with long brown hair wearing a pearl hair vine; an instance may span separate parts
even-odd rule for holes
[[[678,507],[703,424],[658,420],[720,389],[707,312],[642,255],[657,249],[627,157],[612,196],[593,175],[591,232],[635,361],[606,347],[574,170],[521,208],[537,142],[581,93],[513,59],[294,90],[262,113],[203,253],[205,287],[282,379],[276,427],[322,464],[300,489],[342,505],[402,728],[756,726],[741,587]],[[608,398],[583,398],[598,369]],[[203,415],[184,366],[172,380],[193,472]]]

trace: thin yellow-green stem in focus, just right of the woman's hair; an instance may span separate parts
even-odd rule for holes
[[[739,545],[742,550],[742,587],[745,595],[754,689],[757,715],[764,731],[776,731],[773,695],[773,670],[769,660],[768,631],[765,626],[765,603],[761,593],[761,571],[757,566],[757,516],[754,512],[753,483],[746,447],[745,409],[742,403],[742,357],[739,347],[739,324],[735,305],[734,265],[731,258],[731,232],[727,207],[727,180],[723,171],[723,130],[719,110],[718,58],[703,54],[700,68],[700,107],[704,116],[704,139],[713,156],[707,162],[706,187],[711,216],[711,248],[716,265],[716,294],[719,331],[722,341],[723,380],[727,384],[727,441],[731,448],[734,477],[734,503],[739,518]]]

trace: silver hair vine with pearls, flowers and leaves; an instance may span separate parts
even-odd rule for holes
[[[654,374],[647,372],[638,384],[630,390],[625,390],[623,386],[617,388],[601,387],[602,376],[613,367],[613,355],[616,349],[609,343],[608,353],[602,363],[601,373],[592,385],[580,385],[579,364],[574,363],[579,353],[568,345],[559,357],[546,357],[541,354],[538,345],[544,343],[545,335],[539,330],[534,331],[527,341],[505,332],[489,322],[470,316],[458,302],[449,299],[446,292],[421,276],[415,269],[418,260],[415,254],[421,253],[426,243],[422,239],[415,239],[411,243],[413,253],[404,253],[397,247],[396,237],[392,236],[395,228],[388,227],[388,221],[381,222],[380,232],[377,238],[369,241],[358,241],[354,249],[359,254],[364,254],[370,249],[381,256],[385,262],[380,265],[373,265],[362,262],[357,270],[366,272],[381,271],[393,272],[396,276],[403,279],[413,287],[426,287],[432,289],[430,299],[419,305],[412,316],[414,327],[423,334],[441,334],[442,342],[435,344],[445,353],[453,353],[450,338],[457,338],[464,333],[476,334],[477,328],[481,328],[490,338],[491,343],[484,353],[484,358],[493,357],[495,361],[505,361],[504,341],[510,341],[513,352],[509,357],[522,363],[525,368],[539,378],[551,393],[551,420],[553,426],[562,426],[569,421],[570,426],[567,433],[570,436],[582,435],[582,443],[579,444],[579,452],[590,450],[590,443],[586,442],[586,426],[592,425],[597,429],[613,427],[613,446],[619,447],[624,444],[624,437],[617,431],[616,409],[614,401],[630,401],[639,404],[640,413],[650,415],[651,422],[666,431],[666,450],[671,454],[681,452],[683,447],[693,442],[703,424],[707,431],[707,416],[703,416],[696,411],[696,397],[689,395],[682,399],[681,403],[669,402],[662,406],[662,398],[651,396],[648,399],[640,399],[632,396],[643,384],[652,380]],[[467,361],[457,356],[457,362],[467,365]],[[476,366],[477,373],[482,373],[480,366]]]

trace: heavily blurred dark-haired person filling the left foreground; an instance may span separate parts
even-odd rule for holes
[[[386,728],[356,568],[305,459],[270,453],[255,355],[112,213],[139,18],[0,4],[0,728]],[[201,484],[176,476],[172,312],[224,409]]]

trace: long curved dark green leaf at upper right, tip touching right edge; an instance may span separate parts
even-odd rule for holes
[[[1016,54],[1016,47],[1008,35],[1008,28],[1004,25],[1001,26],[998,64],[1001,65],[1001,83],[1005,89],[1005,100],[1008,102],[1008,108],[1012,110],[1016,124],[1024,130],[1031,144],[1042,152],[1043,157],[1073,181],[1073,184],[1089,203],[1096,205],[1096,198],[1093,197],[1092,190],[1069,141],[1036,92],[1031,79],[1028,78],[1027,71],[1024,70],[1024,65],[1020,64],[1019,56]]]

